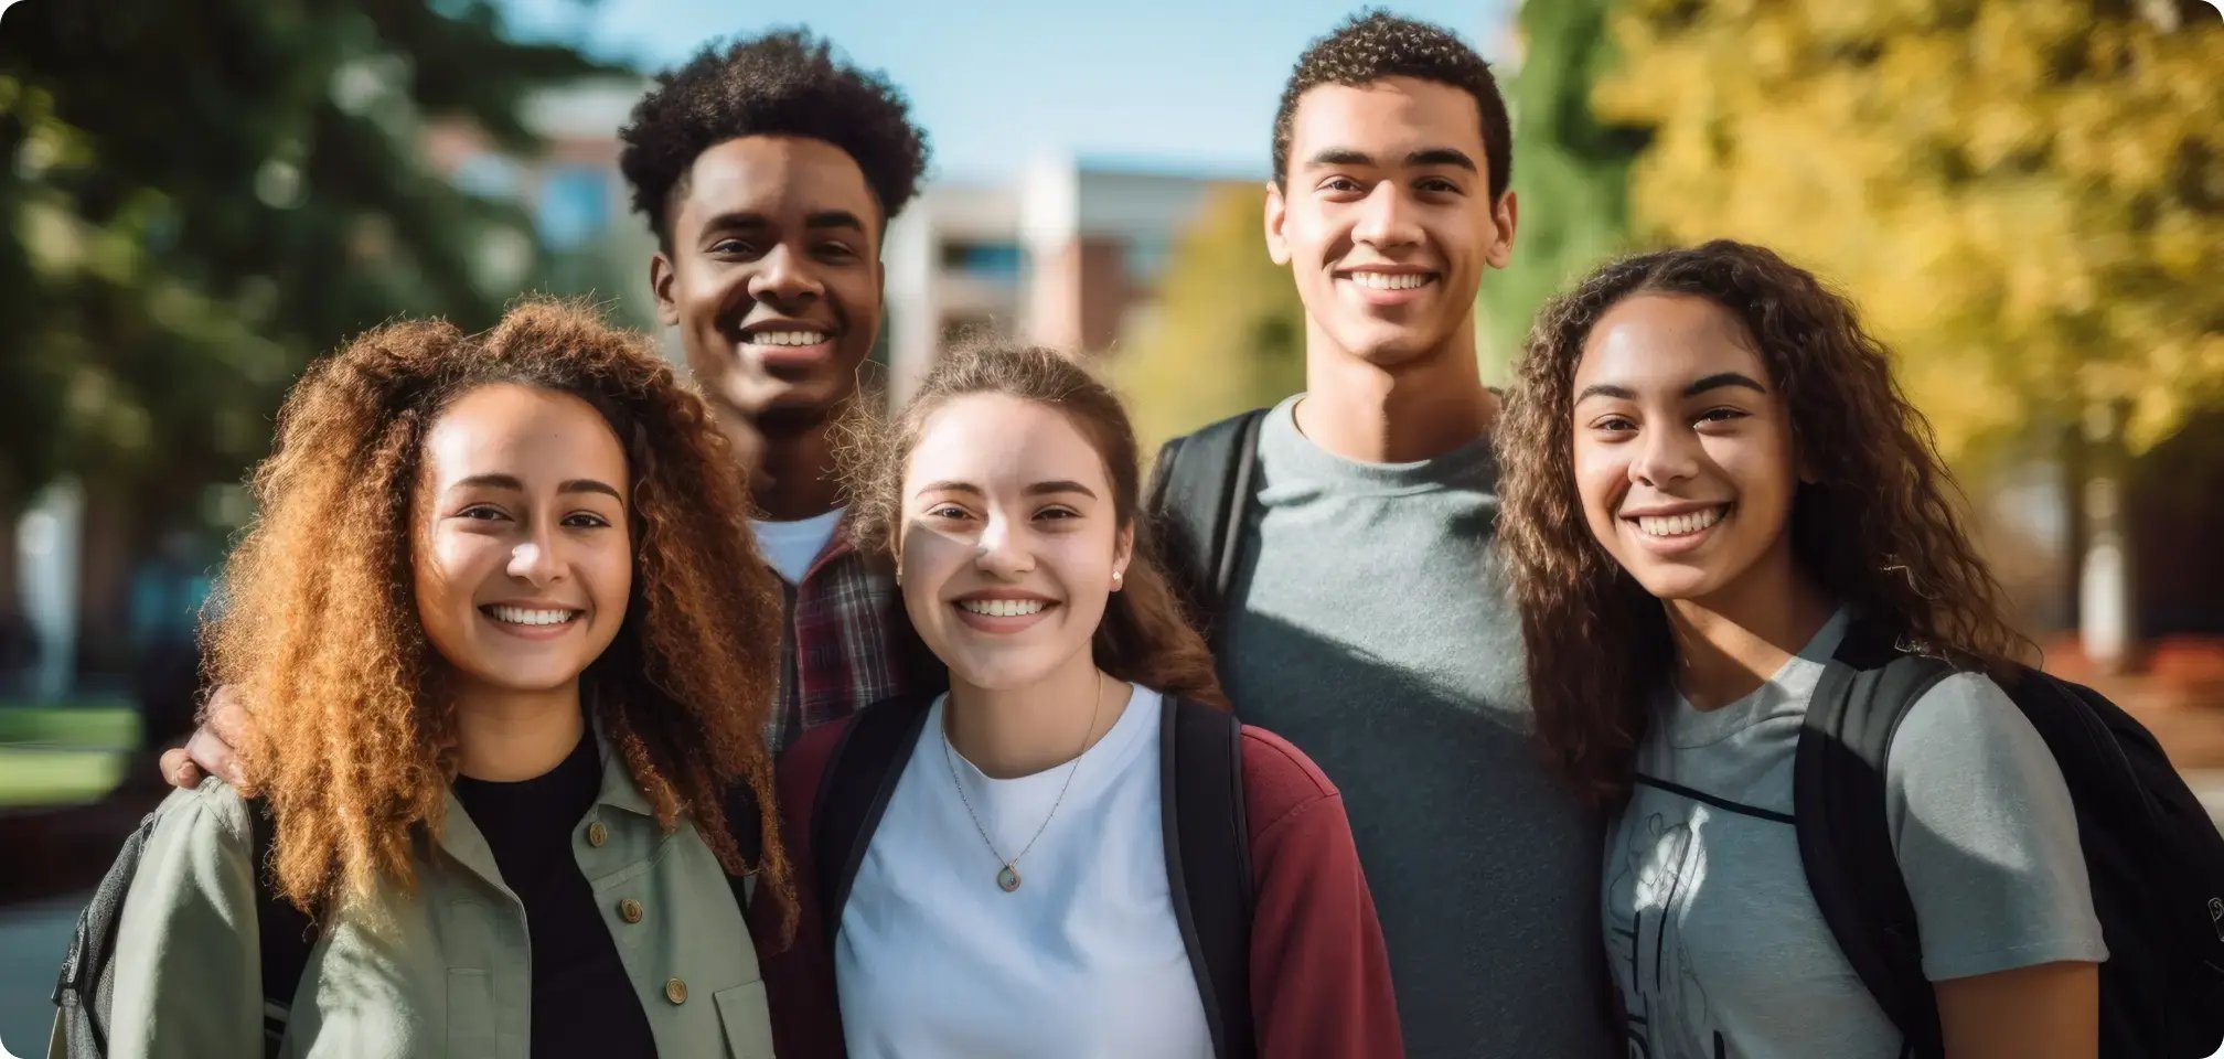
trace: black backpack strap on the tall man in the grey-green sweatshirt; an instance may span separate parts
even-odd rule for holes
[[[1150,476],[1168,574],[1208,643],[1234,585],[1265,416],[1252,409],[1165,443]]]

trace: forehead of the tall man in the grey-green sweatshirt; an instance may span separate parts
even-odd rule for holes
[[[1468,89],[1421,78],[1314,85],[1290,116],[1290,167],[1330,147],[1368,154],[1459,147],[1483,165],[1483,109]]]

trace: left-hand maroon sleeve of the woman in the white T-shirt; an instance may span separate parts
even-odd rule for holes
[[[818,801],[818,776],[834,756],[834,745],[850,721],[810,730],[781,754],[778,790],[781,843],[796,881],[796,934],[783,946],[781,901],[756,901],[749,908],[749,937],[756,939],[756,963],[765,974],[765,1003],[772,1008],[772,1048],[781,1059],[841,1059],[841,1003],[834,992],[832,932],[821,921],[816,861],[812,857],[812,805]]]

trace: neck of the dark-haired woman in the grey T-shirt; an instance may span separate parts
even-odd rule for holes
[[[1837,612],[1837,601],[1797,570],[1781,543],[1721,592],[1664,605],[1677,687],[1697,710],[1719,710],[1753,694]]]

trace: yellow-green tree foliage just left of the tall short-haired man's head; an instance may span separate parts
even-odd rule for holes
[[[1305,307],[1265,256],[1263,216],[1263,185],[1212,191],[1174,245],[1154,318],[1112,354],[1145,452],[1305,387]]]

